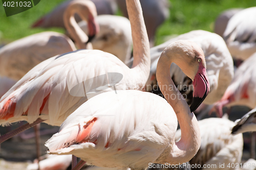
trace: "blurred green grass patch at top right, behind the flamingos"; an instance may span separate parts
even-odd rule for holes
[[[157,31],[156,43],[171,34],[192,30],[214,31],[214,22],[222,11],[256,6],[255,0],[171,0],[170,17]]]

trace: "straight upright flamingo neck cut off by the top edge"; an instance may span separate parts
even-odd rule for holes
[[[139,77],[142,86],[150,75],[150,42],[148,41],[146,26],[139,0],[126,0],[127,12],[132,28],[133,37],[133,66],[132,71]]]

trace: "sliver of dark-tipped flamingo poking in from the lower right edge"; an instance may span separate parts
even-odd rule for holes
[[[232,134],[256,131],[255,115],[256,107],[246,113],[241,119],[236,120],[236,126],[232,128]]]

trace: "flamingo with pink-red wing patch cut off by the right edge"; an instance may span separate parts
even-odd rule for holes
[[[256,53],[246,59],[236,70],[234,78],[220,101],[216,102],[212,109],[216,111],[218,116],[222,116],[222,108],[224,106],[231,107],[243,105],[249,108],[256,106]]]

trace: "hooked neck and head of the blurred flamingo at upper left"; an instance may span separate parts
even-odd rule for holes
[[[91,10],[86,7],[84,8],[84,4],[71,4],[63,15],[63,21],[65,24],[66,29],[68,30],[71,37],[76,42],[76,45],[79,49],[88,49],[88,36],[84,33],[81,28],[78,26],[75,20],[75,14],[78,14],[82,20],[86,20],[89,22],[90,20],[94,20],[93,14]],[[86,14],[86,16],[85,16]],[[95,23],[95,22],[93,22]],[[96,26],[94,27],[96,28]],[[91,31],[89,27],[89,32]]]

